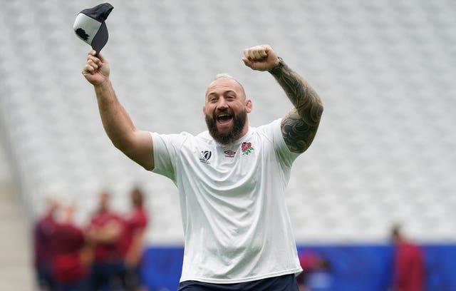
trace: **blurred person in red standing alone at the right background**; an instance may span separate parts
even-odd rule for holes
[[[425,290],[425,262],[423,250],[405,238],[400,226],[391,230],[394,243],[393,291]]]

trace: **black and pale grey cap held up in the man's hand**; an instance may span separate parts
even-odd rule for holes
[[[97,53],[108,42],[108,28],[105,20],[113,8],[109,3],[99,4],[79,12],[74,21],[73,29],[78,38],[92,46]]]

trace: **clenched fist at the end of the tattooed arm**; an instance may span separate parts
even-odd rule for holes
[[[269,44],[244,49],[242,61],[257,71],[271,71],[279,65],[279,57]]]

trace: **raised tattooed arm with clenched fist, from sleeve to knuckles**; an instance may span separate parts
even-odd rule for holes
[[[269,45],[246,49],[242,60],[254,70],[269,71],[284,89],[294,108],[282,118],[282,135],[292,152],[303,153],[314,140],[320,123],[323,113],[320,97]]]

